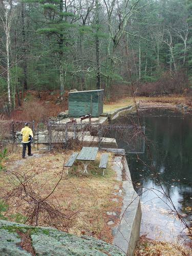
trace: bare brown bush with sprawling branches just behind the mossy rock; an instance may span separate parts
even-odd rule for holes
[[[75,219],[75,213],[61,207],[54,197],[54,191],[63,178],[63,168],[49,177],[45,170],[39,169],[36,172],[29,168],[23,172],[17,169],[7,172],[10,190],[3,199],[9,205],[9,210],[20,208],[19,214],[24,216],[27,224],[51,225],[67,231]],[[55,183],[51,183],[53,180]]]

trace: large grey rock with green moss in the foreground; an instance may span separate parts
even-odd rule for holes
[[[48,227],[33,227],[0,220],[0,255],[31,255],[20,247],[18,233],[29,232],[35,255],[124,255],[116,246],[101,240],[77,237]]]

